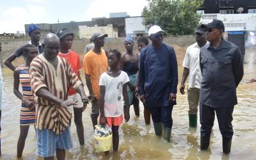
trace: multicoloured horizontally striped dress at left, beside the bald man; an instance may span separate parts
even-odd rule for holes
[[[31,92],[30,77],[24,70],[24,66],[20,66],[20,84],[22,86],[22,95],[25,99],[34,101],[33,94]],[[35,124],[35,111],[30,111],[26,104],[22,102],[20,108],[20,125],[33,125]]]

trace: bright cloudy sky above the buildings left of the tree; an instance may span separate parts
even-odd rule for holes
[[[0,33],[25,31],[24,24],[31,23],[108,18],[110,12],[127,12],[131,16],[140,16],[145,5],[147,0],[4,0],[0,5]]]

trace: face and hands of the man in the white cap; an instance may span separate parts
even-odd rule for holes
[[[162,33],[162,34],[160,34],[160,33]],[[163,43],[163,31],[159,31],[156,34],[150,35],[149,38],[152,41],[152,46],[154,48],[158,48]],[[141,102],[144,103],[146,100],[145,95],[140,95],[140,100],[141,100]],[[176,100],[176,93],[170,93],[169,100],[170,100],[170,102],[172,102],[173,100]]]

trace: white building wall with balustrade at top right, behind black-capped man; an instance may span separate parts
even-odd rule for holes
[[[203,14],[201,22],[207,24],[212,19],[222,20],[226,31],[256,31],[256,14]]]

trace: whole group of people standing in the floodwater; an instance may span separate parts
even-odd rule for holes
[[[221,20],[196,28],[196,42],[188,47],[182,63],[179,91],[185,93],[188,78],[189,126],[196,127],[199,106],[200,149],[209,147],[216,114],[223,152],[228,154],[234,133],[232,112],[237,104],[236,87],[243,78],[243,57],[236,45],[223,39],[224,31]],[[152,43],[146,37],[138,38],[140,54],[134,52],[131,37],[124,40],[124,53],[113,49],[106,54],[102,47],[108,35],[94,33],[91,44],[84,49],[83,67],[79,55],[70,50],[74,33],[68,29],[48,33],[44,43],[40,43],[40,28],[36,24],[29,26],[28,34],[31,38],[28,44],[4,61],[13,70],[13,92],[22,100],[17,157],[22,156],[29,126],[35,125],[36,154],[53,159],[56,153],[57,159],[65,159],[65,150],[72,148],[73,113],[79,143],[84,145],[82,115],[89,102],[93,129],[97,124],[112,129],[113,152],[118,150],[119,126],[123,119],[125,122],[130,119],[131,105],[135,115],[140,116],[140,100],[145,124],[150,124],[151,116],[156,136],[163,134],[164,140],[170,142],[172,109],[177,103],[178,65],[175,50],[163,42],[164,31],[159,26],[148,29]],[[19,56],[24,56],[26,63],[15,68],[12,61]],[[89,95],[84,92],[82,68]]]

